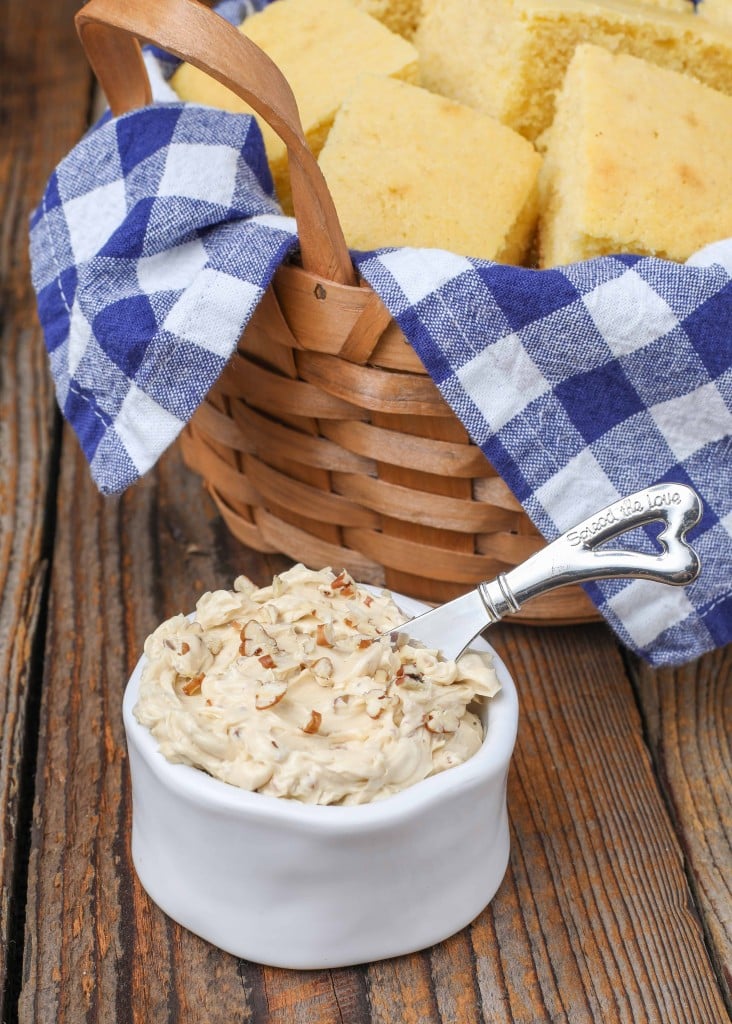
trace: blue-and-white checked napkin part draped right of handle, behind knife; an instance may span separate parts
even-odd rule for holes
[[[528,270],[405,249],[357,262],[546,538],[650,483],[696,488],[696,583],[586,589],[653,664],[732,640],[732,240],[685,266]]]

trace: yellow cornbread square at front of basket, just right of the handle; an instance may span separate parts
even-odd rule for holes
[[[319,157],[351,248],[434,247],[511,263],[534,227],[541,162],[493,118],[371,75]]]

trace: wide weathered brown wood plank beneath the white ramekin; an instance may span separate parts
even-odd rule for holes
[[[263,583],[287,562],[238,548],[176,452],[122,500],[102,500],[67,435],[58,507],[21,1024],[724,1020],[630,682],[602,627],[493,630],[522,703],[513,847],[472,926],[411,956],[288,972],[174,925],[130,861],[124,682],[162,617],[239,572]]]

